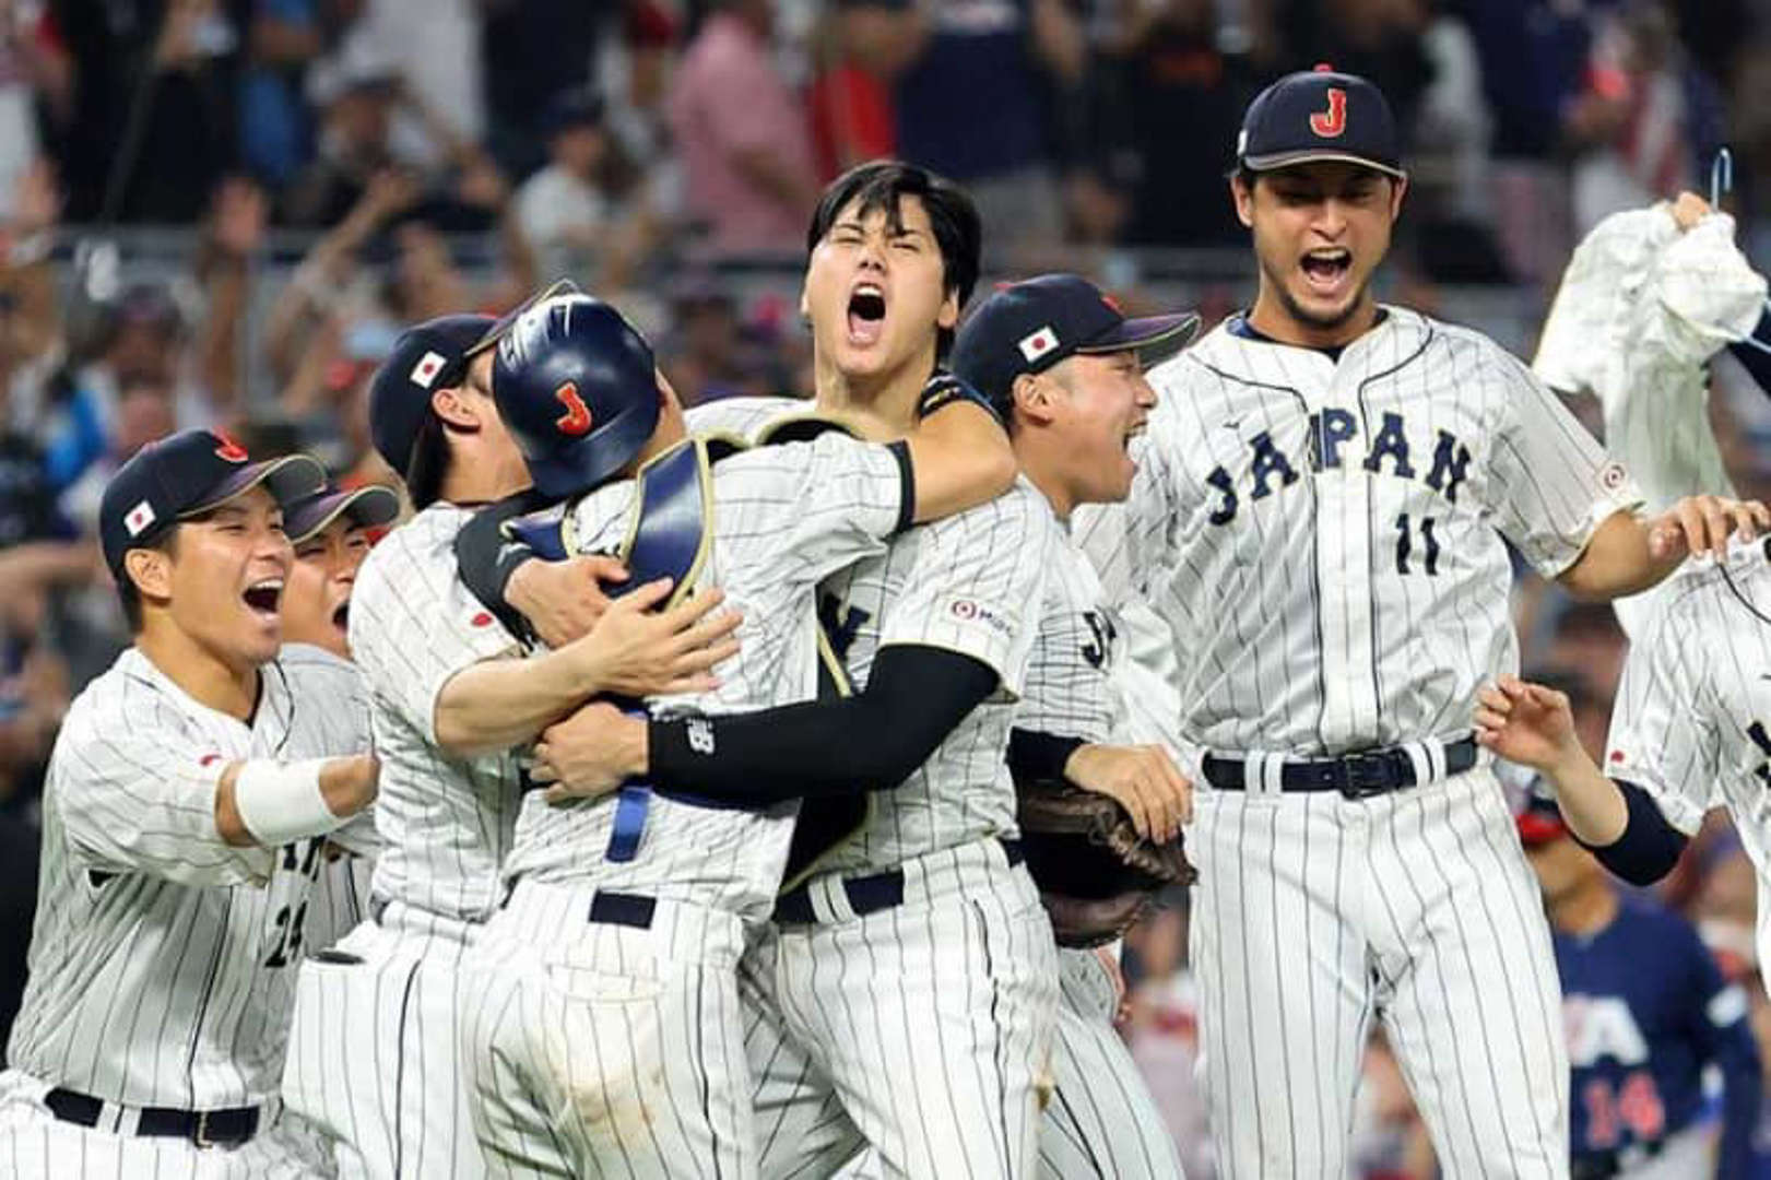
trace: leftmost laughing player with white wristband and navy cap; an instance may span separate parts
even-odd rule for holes
[[[30,982],[0,1074],[9,1176],[310,1176],[276,1097],[324,838],[375,794],[342,661],[278,654],[283,503],[312,459],[149,443],[99,533],[135,634],[50,762]]]

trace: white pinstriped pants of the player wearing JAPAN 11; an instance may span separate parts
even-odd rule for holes
[[[1187,850],[1227,1180],[1346,1175],[1373,1019],[1445,1176],[1567,1176],[1555,955],[1491,771],[1369,799],[1201,790]]]

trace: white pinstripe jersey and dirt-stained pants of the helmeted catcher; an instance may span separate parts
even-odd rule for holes
[[[816,583],[886,547],[901,489],[887,448],[834,434],[715,464],[698,585],[744,611],[740,654],[712,693],[652,705],[731,714],[811,700]],[[572,507],[583,551],[627,535],[632,491]],[[499,1175],[754,1175],[737,962],[746,927],[772,909],[795,808],[653,796],[636,856],[611,861],[616,808],[553,806],[540,792],[522,803],[515,893],[471,957],[464,1052],[480,1143]],[[650,898],[650,928],[588,921],[599,891]]]

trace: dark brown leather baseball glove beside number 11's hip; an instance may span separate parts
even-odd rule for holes
[[[1158,889],[1199,875],[1179,836],[1146,840],[1107,796],[1063,780],[1017,783],[1017,796],[1027,872],[1059,946],[1114,941],[1151,909]]]

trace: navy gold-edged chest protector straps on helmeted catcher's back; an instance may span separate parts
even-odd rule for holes
[[[629,578],[613,594],[623,595],[659,578],[671,579],[668,609],[694,594],[714,544],[714,471],[717,459],[737,454],[744,443],[723,434],[698,434],[653,455],[636,477],[634,503],[629,510],[627,539],[618,556]],[[570,516],[567,516],[570,523]],[[570,542],[570,537],[565,539]],[[570,544],[567,546],[570,551]],[[646,718],[643,702],[616,702],[629,714]],[[609,829],[611,861],[630,861],[639,854],[652,810],[652,787],[627,783],[615,801]]]

